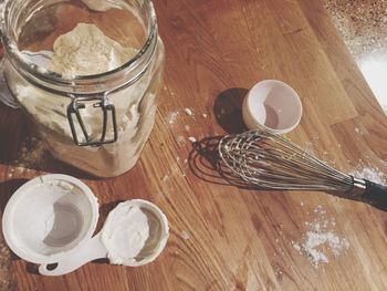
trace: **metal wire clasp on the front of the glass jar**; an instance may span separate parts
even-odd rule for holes
[[[67,118],[71,127],[71,133],[73,135],[74,143],[77,146],[101,146],[104,144],[113,144],[118,139],[118,131],[117,131],[117,119],[116,119],[116,111],[114,104],[107,98],[107,94],[103,96],[94,95],[94,96],[74,96],[72,95],[72,102],[67,106]],[[86,108],[86,102],[97,101],[93,104],[94,108],[101,108],[103,113],[103,124],[102,124],[102,133],[101,138],[96,141],[91,141],[91,134],[87,133],[85,123],[82,118],[82,110]],[[106,139],[107,133],[107,121],[108,115],[111,114],[112,126],[113,126],[113,137]],[[76,117],[77,124],[81,127],[83,137],[85,142],[80,142],[75,129],[74,116]]]

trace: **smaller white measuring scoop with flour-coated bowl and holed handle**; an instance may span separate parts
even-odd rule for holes
[[[154,261],[169,236],[168,220],[154,204],[140,199],[116,206],[102,230],[88,242],[66,253],[54,269],[42,264],[44,276],[62,276],[95,259],[108,258],[113,264],[138,267]]]

